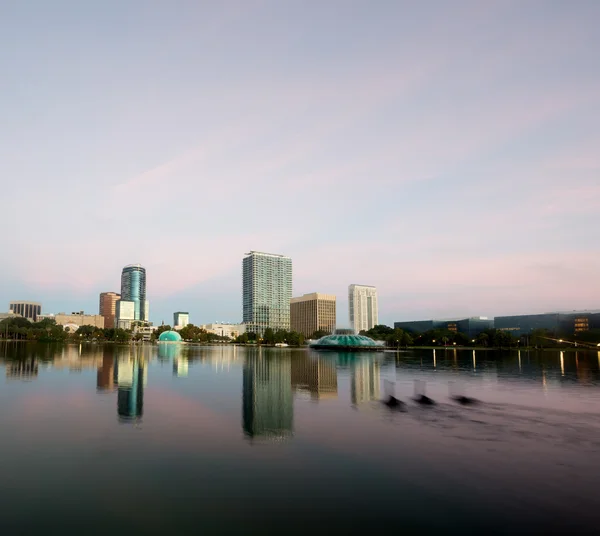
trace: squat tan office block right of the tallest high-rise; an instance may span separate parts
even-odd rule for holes
[[[315,331],[335,331],[335,296],[332,294],[305,294],[290,300],[292,331],[310,337]]]

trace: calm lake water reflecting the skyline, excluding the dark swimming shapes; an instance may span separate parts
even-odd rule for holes
[[[599,365],[0,343],[0,534],[597,534]]]

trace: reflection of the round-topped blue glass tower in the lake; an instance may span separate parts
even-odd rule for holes
[[[121,355],[116,360],[117,414],[121,421],[140,420],[148,372],[144,356]]]

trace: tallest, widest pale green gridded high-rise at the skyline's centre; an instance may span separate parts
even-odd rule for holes
[[[292,259],[251,251],[242,262],[243,322],[246,331],[264,335],[290,329]]]

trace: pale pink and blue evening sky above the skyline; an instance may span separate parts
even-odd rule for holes
[[[379,320],[600,308],[600,2],[0,3],[0,311],[239,322],[241,262]],[[5,305],[2,305],[5,304]]]

